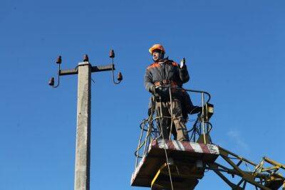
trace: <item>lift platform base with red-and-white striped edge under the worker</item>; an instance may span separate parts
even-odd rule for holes
[[[218,156],[214,144],[154,139],[135,168],[131,185],[171,189],[170,173],[174,189],[194,189],[204,176],[205,164],[214,163]]]

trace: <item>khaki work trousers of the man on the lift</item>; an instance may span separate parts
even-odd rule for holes
[[[170,129],[172,129],[172,134],[175,139],[188,141],[189,136],[185,125],[185,119],[182,117],[181,101],[172,99],[172,104],[170,101],[162,101],[156,102],[156,105],[157,116],[160,117],[158,119],[158,127],[162,138],[169,139]]]

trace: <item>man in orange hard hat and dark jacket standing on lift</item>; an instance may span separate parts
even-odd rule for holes
[[[182,101],[185,100],[187,93],[184,92],[183,95],[181,90],[175,90],[175,88],[182,88],[182,84],[187,83],[190,79],[185,61],[182,61],[182,63],[178,65],[173,60],[169,60],[168,57],[164,58],[165,48],[160,44],[153,45],[149,51],[152,55],[152,60],[155,62],[147,67],[145,73],[145,88],[152,93],[153,98],[150,107],[155,107],[155,104],[157,108],[156,114],[162,117],[160,119],[160,136],[163,135],[165,139],[170,137],[172,114],[175,125],[175,130],[172,130],[172,134],[177,140],[188,141],[189,137],[185,125],[187,120],[185,120],[185,117],[182,115],[182,104],[185,103]],[[170,88],[172,101],[170,101]],[[189,97],[188,94],[186,96]],[[187,105],[192,106],[190,97],[189,101]]]

